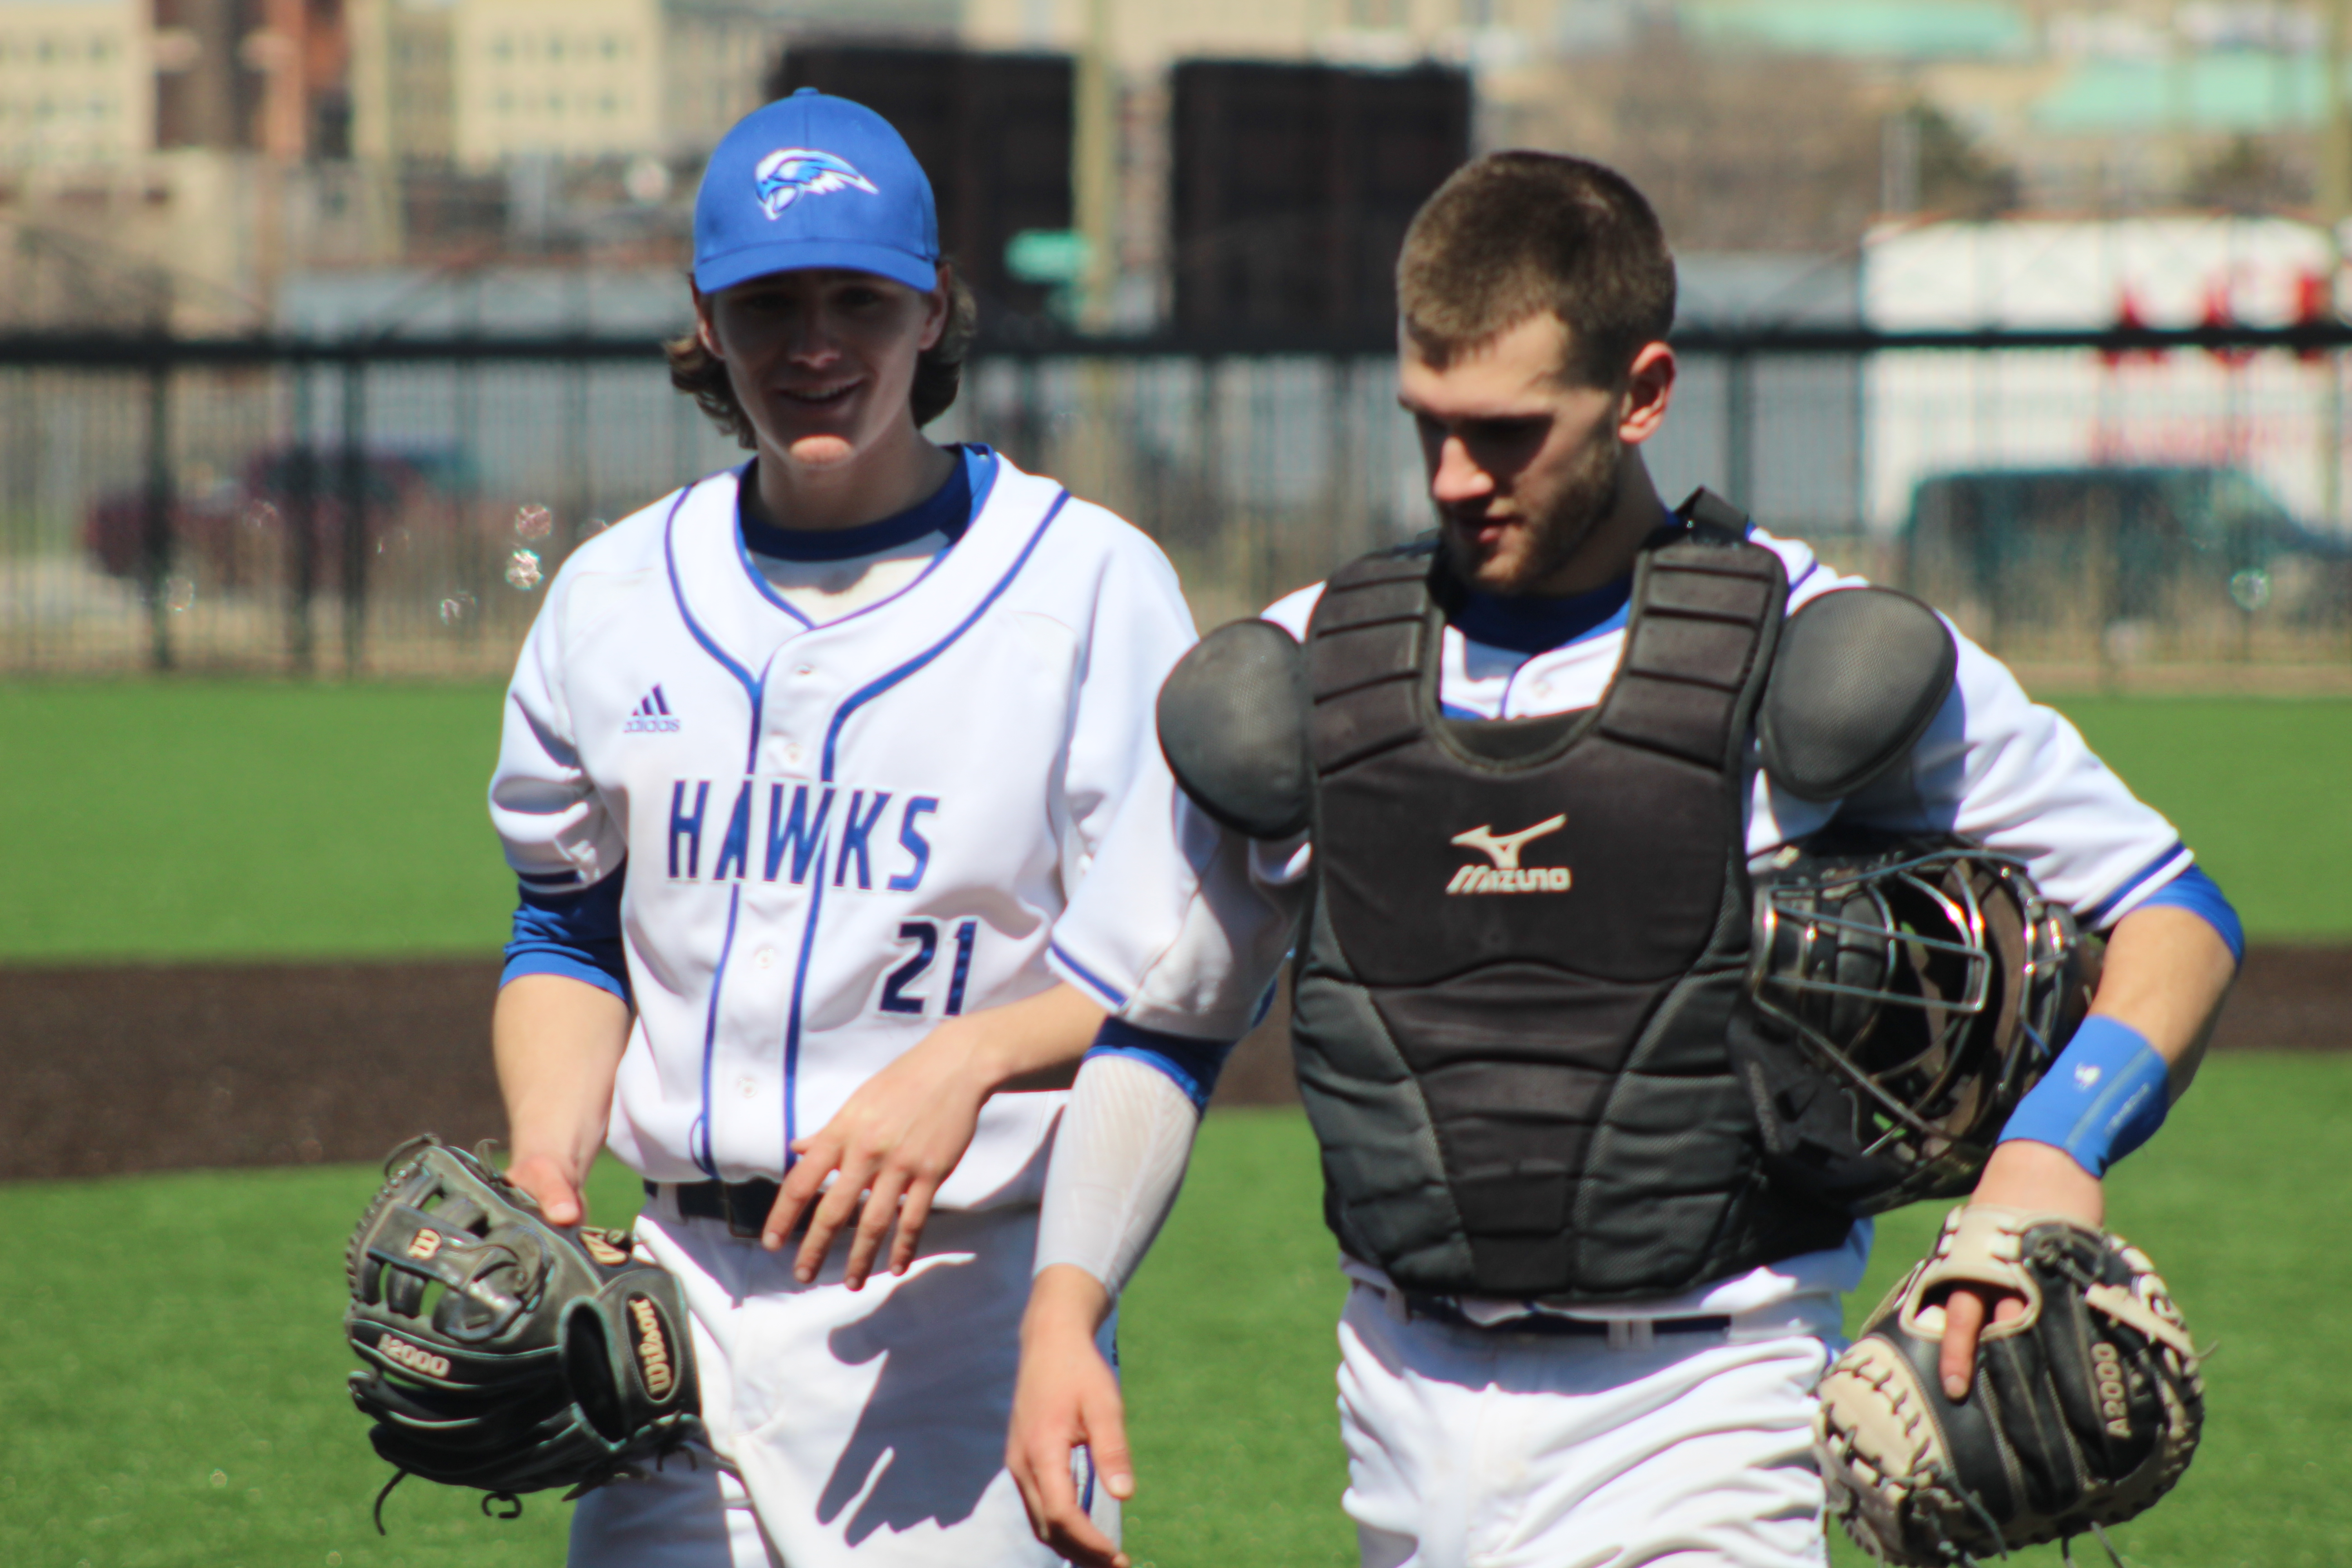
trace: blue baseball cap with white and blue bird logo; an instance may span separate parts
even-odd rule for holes
[[[727,132],[694,195],[694,287],[849,268],[938,287],[931,181],[889,120],[802,87]]]

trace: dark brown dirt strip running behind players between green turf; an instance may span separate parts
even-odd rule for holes
[[[0,969],[0,1180],[376,1159],[499,1135],[494,961]],[[1218,1105],[1296,1103],[1287,1009]],[[2216,1048],[2352,1044],[2352,947],[2256,947]]]

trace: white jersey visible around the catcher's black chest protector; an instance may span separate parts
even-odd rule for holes
[[[1823,567],[1809,545],[1750,534],[1788,569],[1788,609],[1860,578]],[[1305,637],[1322,588],[1265,611]],[[1538,654],[1444,632],[1439,701],[1463,717],[1517,719],[1592,708],[1625,644],[1623,588],[1616,609],[1592,599],[1592,621]],[[1534,614],[1545,607],[1529,604]],[[1571,607],[1573,609],[1573,607]],[[1757,766],[1748,795],[1748,849],[1766,853],[1832,816],[1891,830],[1959,832],[2025,860],[2042,891],[2086,926],[2107,926],[2190,867],[2192,856],[2161,813],[2138,802],[2058,712],[2032,703],[1990,654],[1959,637],[1959,670],[1910,764],[1849,802],[1802,802]],[[1094,879],[1056,933],[1056,964],[1127,1023],[1164,1034],[1235,1039],[1251,1020],[1291,938],[1308,889],[1310,846],[1242,844],[1185,802],[1155,766],[1120,816]],[[1465,856],[1475,858],[1472,851]],[[1084,1081],[1082,1081],[1084,1093]],[[1061,1173],[1056,1173],[1056,1182]],[[1047,1225],[1040,1262],[1058,1258]],[[1578,1316],[1639,1319],[1743,1314],[1806,1293],[1851,1291],[1870,1253],[1870,1225],[1846,1246],[1792,1258],[1651,1302],[1578,1307]],[[1348,1260],[1357,1279],[1385,1276]],[[1463,1302],[1475,1321],[1524,1314],[1524,1302]]]

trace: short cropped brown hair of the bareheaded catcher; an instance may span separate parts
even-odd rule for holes
[[[1616,169],[1557,153],[1489,153],[1414,214],[1397,256],[1397,310],[1414,336],[1475,348],[1550,310],[1571,364],[1618,386],[1675,324],[1675,256],[1642,193]]]

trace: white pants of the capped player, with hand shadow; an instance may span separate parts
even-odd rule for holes
[[[814,1284],[663,1197],[637,1239],[684,1286],[710,1443],[588,1493],[572,1568],[1049,1568],[1004,1472],[1037,1211],[934,1211],[903,1279]],[[691,1465],[689,1465],[691,1453]],[[1117,1502],[1094,1490],[1117,1537]]]

